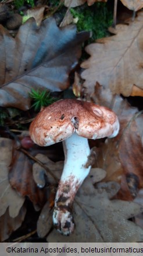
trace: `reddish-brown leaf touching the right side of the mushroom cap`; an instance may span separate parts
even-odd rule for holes
[[[138,109],[131,108],[119,95],[112,95],[110,89],[96,85],[92,101],[112,109],[119,117],[120,132],[113,139],[96,148],[94,167],[105,169],[104,181],[116,181],[121,184],[120,199],[133,200],[138,189],[143,187],[143,115]]]

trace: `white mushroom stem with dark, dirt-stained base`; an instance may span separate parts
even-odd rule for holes
[[[65,165],[56,193],[53,224],[60,233],[69,235],[74,230],[72,216],[74,196],[91,169],[91,166],[86,167],[90,147],[86,138],[74,133],[63,141],[63,148]]]

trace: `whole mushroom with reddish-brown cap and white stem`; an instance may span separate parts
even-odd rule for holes
[[[31,139],[39,146],[63,141],[65,164],[53,210],[53,224],[60,233],[69,235],[74,230],[74,196],[91,169],[88,139],[112,138],[118,132],[119,121],[112,110],[77,99],[49,105],[31,123]]]

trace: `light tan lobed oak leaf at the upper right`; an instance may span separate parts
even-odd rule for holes
[[[133,85],[143,89],[143,12],[129,25],[117,25],[117,34],[96,40],[85,50],[91,57],[81,64],[88,94],[96,82],[113,94],[131,95]]]

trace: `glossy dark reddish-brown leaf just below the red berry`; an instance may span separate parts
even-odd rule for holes
[[[16,147],[13,149],[9,182],[23,198],[28,196],[35,210],[40,210],[44,205],[47,191],[37,187],[33,179],[31,160],[23,152],[16,150]]]

